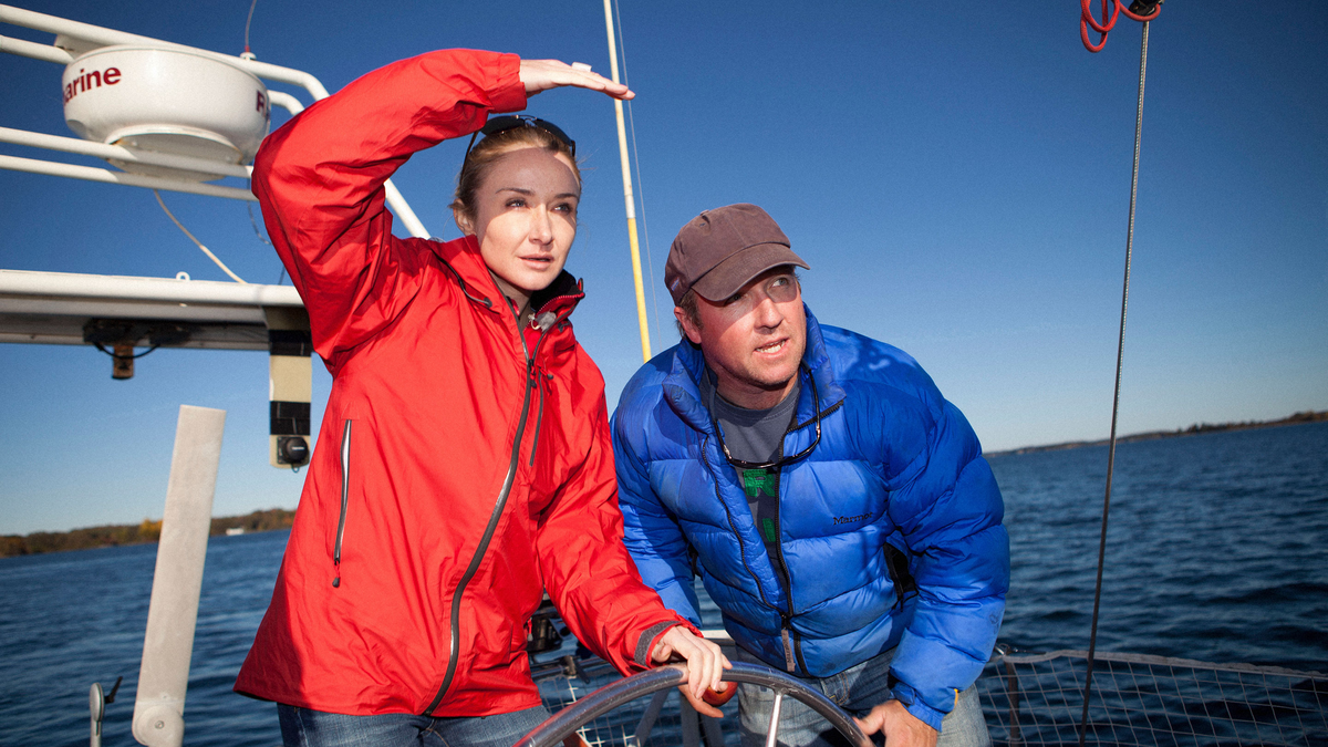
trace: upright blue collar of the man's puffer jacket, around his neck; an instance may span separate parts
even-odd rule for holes
[[[830,352],[826,350],[825,339],[821,336],[821,324],[806,304],[802,310],[807,318],[807,350],[802,354],[802,367],[799,376],[802,385],[798,387],[798,427],[806,427],[815,421],[817,412],[814,400],[819,400],[821,415],[825,416],[843,401],[843,387],[835,380],[834,368],[830,364]],[[677,416],[703,433],[714,432],[710,412],[701,403],[701,376],[705,376],[705,358],[701,348],[691,344],[685,339],[673,348],[673,368],[664,377],[664,399]],[[815,383],[815,396],[807,385],[807,375]]]

